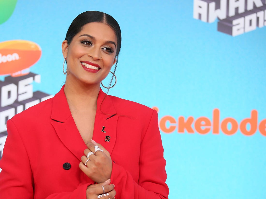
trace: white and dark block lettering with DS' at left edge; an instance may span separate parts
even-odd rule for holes
[[[0,81],[0,159],[7,137],[7,120],[15,114],[53,97],[41,91],[33,92],[33,82],[40,83],[41,76],[29,73],[19,77],[7,76],[5,81]]]

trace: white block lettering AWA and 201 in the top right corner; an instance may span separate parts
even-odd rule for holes
[[[265,0],[194,0],[193,18],[213,23],[218,31],[237,36],[266,26]]]

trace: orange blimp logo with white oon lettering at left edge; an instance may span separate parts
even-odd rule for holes
[[[38,44],[26,40],[11,40],[0,43],[0,75],[13,77],[27,75],[30,67],[41,57]]]

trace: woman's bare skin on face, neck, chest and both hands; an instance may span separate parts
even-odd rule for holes
[[[103,146],[91,139],[100,83],[116,62],[116,46],[115,32],[105,23],[85,24],[81,31],[73,37],[70,44],[66,40],[62,43],[62,52],[63,56],[67,57],[68,67],[64,92],[78,131],[84,142],[87,143],[88,149],[85,151],[92,150],[94,152],[94,145],[98,145],[104,151],[97,151],[93,157],[90,156],[92,159],[87,166],[84,165],[87,158],[81,157],[80,169],[90,179],[99,183],[87,188],[87,199],[97,198],[99,194],[102,194],[102,186],[104,186],[105,192],[109,193],[109,196],[103,198],[108,199],[115,196],[114,185],[110,184],[112,171],[110,154]],[[84,61],[98,64],[100,69],[96,73],[86,71],[81,65],[81,62]]]

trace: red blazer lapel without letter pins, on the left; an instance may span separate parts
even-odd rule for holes
[[[51,124],[55,128],[59,139],[80,160],[81,156],[84,155],[86,144],[78,132],[70,113],[64,93],[64,86],[53,98],[51,119],[53,120]]]

